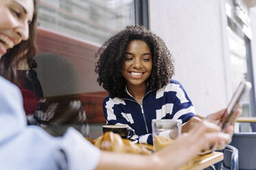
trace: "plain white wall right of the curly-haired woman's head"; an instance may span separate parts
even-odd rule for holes
[[[153,32],[167,44],[180,81],[198,114],[224,108],[230,99],[226,14],[221,0],[149,0]],[[256,68],[256,67],[255,67]]]

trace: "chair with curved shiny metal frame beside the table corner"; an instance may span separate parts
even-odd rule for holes
[[[238,169],[238,150],[231,146],[231,145],[226,145],[226,148],[222,150],[224,154],[224,159],[222,162],[218,162],[215,164],[215,169],[216,170],[237,170]]]

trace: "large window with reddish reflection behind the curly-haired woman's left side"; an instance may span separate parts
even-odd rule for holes
[[[127,25],[148,28],[147,0],[41,0],[37,75],[45,97],[79,99],[88,123],[104,123],[94,53]],[[97,127],[98,128],[98,127]],[[92,136],[100,130],[91,128]],[[95,132],[95,134],[94,134]]]

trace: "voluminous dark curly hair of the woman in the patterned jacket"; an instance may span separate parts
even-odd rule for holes
[[[125,64],[125,51],[132,40],[142,40],[149,45],[152,53],[153,67],[147,79],[147,88],[160,89],[174,75],[173,60],[164,41],[141,26],[127,26],[107,40],[98,52],[95,73],[97,82],[107,90],[111,97],[122,97],[125,93],[125,78],[122,71]]]

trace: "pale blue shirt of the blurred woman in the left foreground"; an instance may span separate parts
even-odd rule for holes
[[[62,149],[70,170],[95,169],[100,150],[70,128],[52,137],[40,127],[26,125],[21,92],[0,76],[0,169],[59,169]]]

